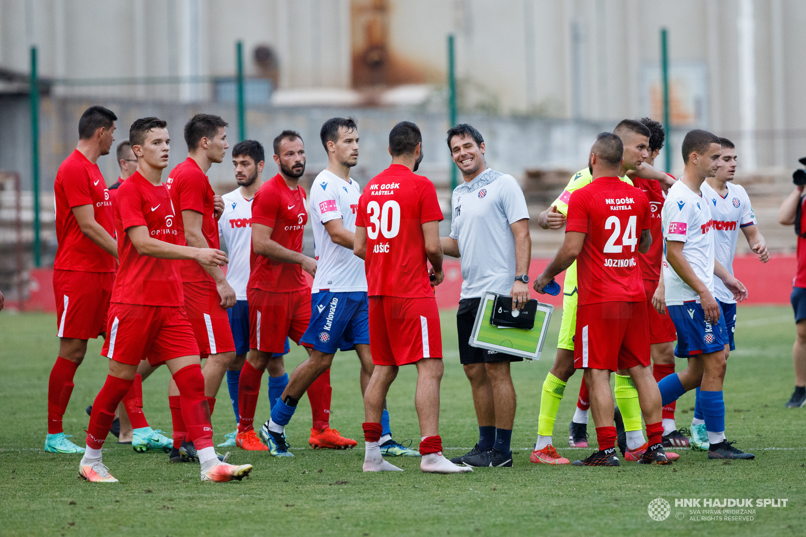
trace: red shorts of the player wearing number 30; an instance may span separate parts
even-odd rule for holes
[[[370,296],[369,349],[376,366],[442,358],[437,299]]]

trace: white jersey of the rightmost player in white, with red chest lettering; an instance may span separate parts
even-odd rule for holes
[[[702,195],[708,200],[713,218],[714,242],[716,243],[717,261],[733,275],[733,256],[736,254],[736,243],[739,238],[739,229],[748,225],[755,225],[756,219],[750,197],[745,189],[738,184],[726,183],[728,194],[722,197],[719,192],[703,183]],[[721,279],[714,279],[714,298],[726,304],[735,304],[733,293],[728,291]]]

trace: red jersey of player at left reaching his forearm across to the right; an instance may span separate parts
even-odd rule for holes
[[[135,171],[118,188],[114,207],[114,225],[118,232],[118,276],[112,288],[112,302],[143,306],[183,306],[179,262],[140,255],[126,229],[145,225],[151,238],[181,244],[177,221],[181,214],[173,210],[165,184],[151,184]],[[194,261],[195,262],[195,261]]]

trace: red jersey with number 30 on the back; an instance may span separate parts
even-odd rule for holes
[[[368,295],[434,296],[422,235],[422,225],[432,221],[442,221],[442,209],[427,177],[393,164],[367,184],[355,225],[367,228]]]

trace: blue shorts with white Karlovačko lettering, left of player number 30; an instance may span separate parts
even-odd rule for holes
[[[369,345],[369,300],[364,291],[319,291],[310,297],[310,323],[300,345],[333,354]]]

